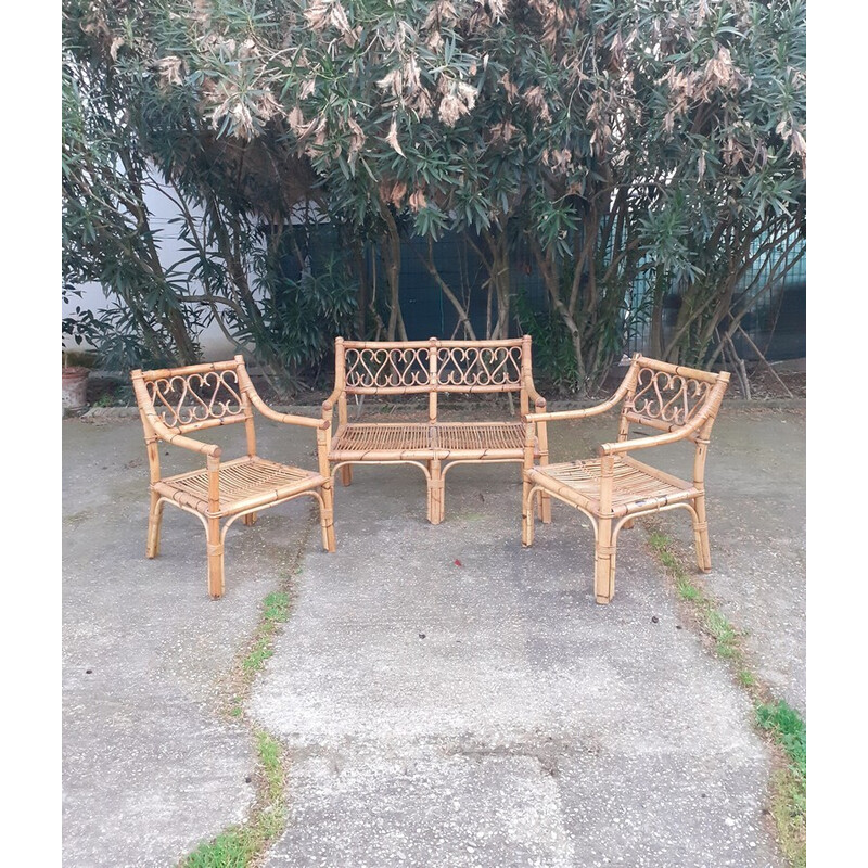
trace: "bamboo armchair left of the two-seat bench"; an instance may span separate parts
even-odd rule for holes
[[[208,592],[217,599],[224,593],[224,542],[232,523],[243,519],[244,524],[252,525],[258,510],[302,495],[310,495],[319,502],[322,545],[327,551],[334,551],[328,432],[322,420],[272,410],[254,388],[242,356],[235,356],[230,361],[186,368],[136,370],[131,378],[151,469],[149,558],[159,553],[163,506],[174,503],[193,513],[205,527]],[[314,429],[319,456],[318,471],[279,464],[257,456],[254,407],[275,422]],[[220,461],[219,446],[187,436],[191,432],[235,423],[244,424],[247,454],[231,461]],[[163,476],[159,441],[204,456],[205,468]]]

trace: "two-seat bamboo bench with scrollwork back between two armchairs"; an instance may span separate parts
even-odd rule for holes
[[[353,464],[412,464],[427,482],[427,520],[444,518],[444,478],[456,464],[524,460],[526,417],[531,403],[545,412],[546,399],[536,391],[531,363],[531,337],[506,341],[370,342],[334,344],[334,392],[323,401],[323,420],[337,427],[329,447],[331,474],[341,470],[344,485]],[[437,398],[447,393],[518,392],[520,420],[443,422]],[[349,422],[348,395],[426,395],[427,419],[410,423]],[[538,422],[533,455],[548,463],[546,424]],[[540,519],[550,521],[548,493],[537,498]]]

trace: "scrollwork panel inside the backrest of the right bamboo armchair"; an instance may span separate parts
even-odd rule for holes
[[[623,413],[629,422],[661,431],[674,431],[702,409],[717,375],[693,368],[655,366],[646,359],[638,367],[635,391],[627,395]]]

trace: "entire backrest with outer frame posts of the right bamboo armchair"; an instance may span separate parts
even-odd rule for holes
[[[700,416],[706,419],[705,424],[688,434],[688,439],[707,437],[728,382],[726,372],[669,365],[637,353],[622,385],[626,396],[620,439],[626,437],[631,423],[669,432],[689,425]]]

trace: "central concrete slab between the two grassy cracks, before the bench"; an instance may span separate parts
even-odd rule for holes
[[[573,457],[610,430],[553,445]],[[737,458],[715,455],[717,473]],[[255,686],[292,756],[266,864],[783,865],[750,702],[681,624],[646,532],[622,534],[599,607],[580,515],[556,503],[522,550],[514,468],[452,473],[436,527],[417,476],[339,486],[337,552],[309,551]]]

